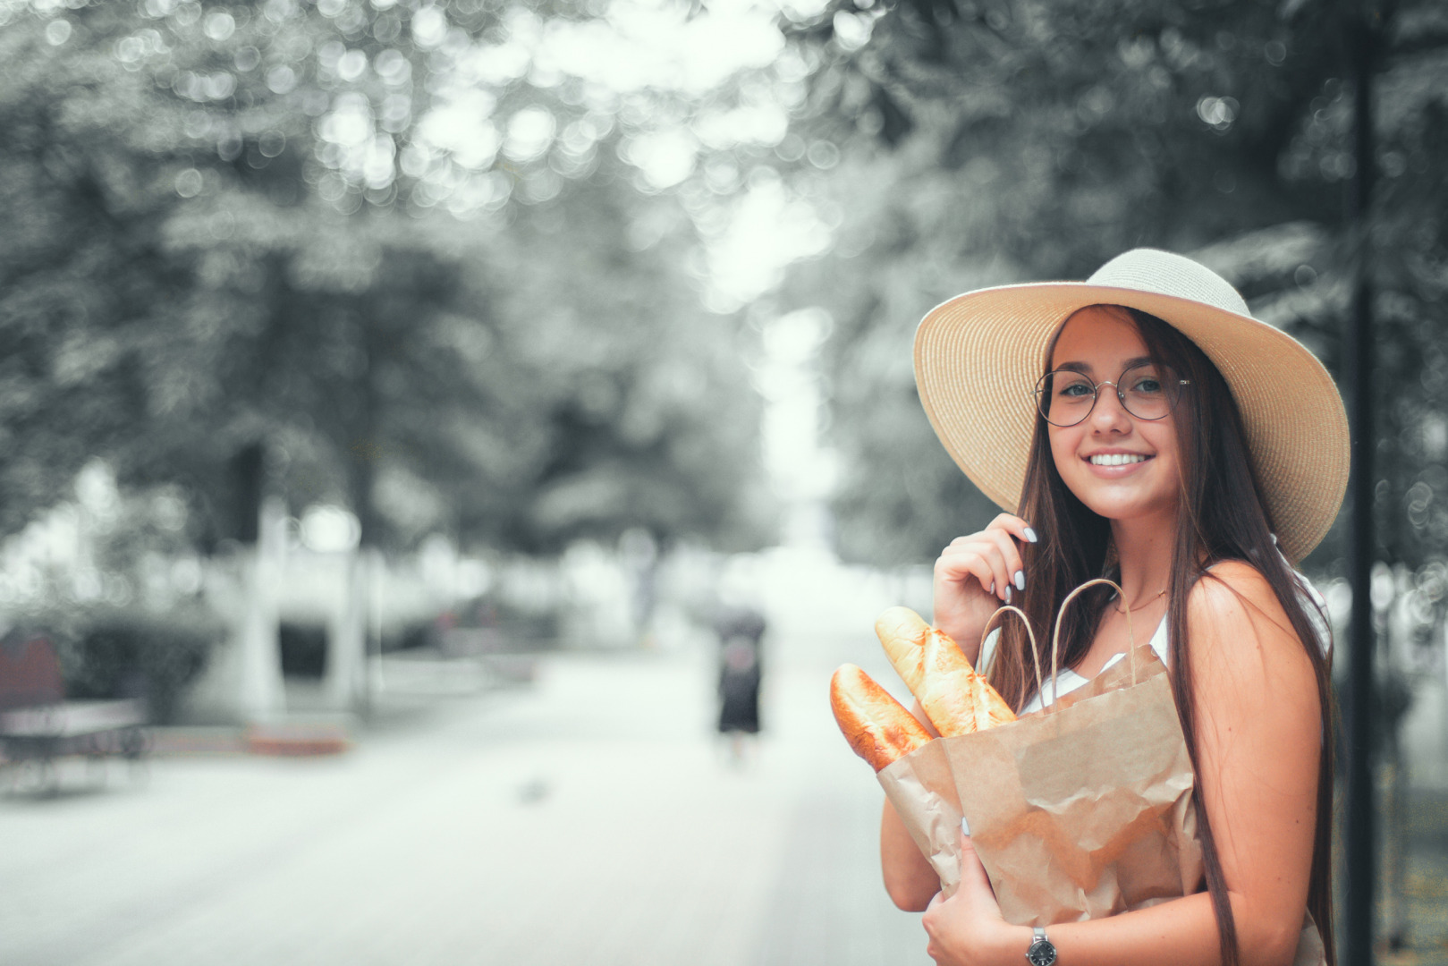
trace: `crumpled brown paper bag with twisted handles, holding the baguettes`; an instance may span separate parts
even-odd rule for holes
[[[1116,587],[1089,581],[1061,610],[1098,584]],[[1015,607],[996,616],[1006,611],[1025,620]],[[1127,626],[1134,642],[1129,613]],[[1053,694],[1058,639],[1057,616]],[[1044,692],[1040,666],[1035,676]],[[1150,644],[1132,644],[1125,659],[1041,711],[937,739],[877,778],[946,895],[960,883],[966,818],[1008,923],[1099,918],[1203,888],[1196,779],[1167,668]],[[1295,966],[1322,962],[1322,940],[1308,917]]]

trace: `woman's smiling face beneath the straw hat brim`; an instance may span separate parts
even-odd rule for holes
[[[1076,426],[1048,426],[1056,469],[1070,491],[1108,520],[1174,518],[1180,461],[1174,416],[1142,420],[1128,413],[1114,387],[1128,366],[1147,362],[1147,343],[1119,308],[1082,308],[1061,329],[1051,369],[1074,369],[1095,384],[1090,416]]]

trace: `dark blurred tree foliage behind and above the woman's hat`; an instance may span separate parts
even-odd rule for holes
[[[847,0],[796,25],[814,65],[796,133],[846,148],[835,251],[792,284],[801,301],[824,293],[838,320],[850,555],[930,559],[992,513],[951,476],[908,364],[917,320],[960,291],[1083,278],[1160,246],[1212,265],[1258,317],[1338,366],[1355,251],[1350,6]],[[1426,1],[1381,14],[1381,540],[1419,562],[1448,545],[1448,19]],[[1339,555],[1334,534],[1315,560]]]

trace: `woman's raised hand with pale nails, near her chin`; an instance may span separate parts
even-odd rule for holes
[[[1001,604],[1025,589],[1021,543],[1037,536],[1021,517],[1002,513],[980,533],[956,537],[935,560],[934,624],[975,663],[980,631]]]

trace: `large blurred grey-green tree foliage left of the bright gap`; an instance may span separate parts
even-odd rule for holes
[[[543,62],[542,16],[586,12],[0,7],[0,527],[103,453],[207,545],[264,485],[384,546],[766,539],[734,320],[688,219],[637,238],[653,96]]]

